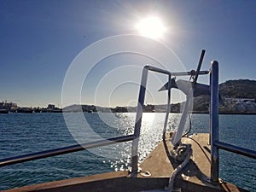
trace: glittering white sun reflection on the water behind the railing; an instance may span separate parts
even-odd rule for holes
[[[124,134],[132,134],[134,131],[136,113],[119,113],[119,124],[122,124]],[[160,143],[164,129],[166,113],[143,113],[140,140],[138,146],[139,163]],[[177,128],[179,114],[171,114],[169,117],[168,130]],[[125,126],[124,126],[125,125]],[[126,170],[131,166],[131,142],[115,145],[115,153],[119,158],[111,161],[111,167],[115,171]]]

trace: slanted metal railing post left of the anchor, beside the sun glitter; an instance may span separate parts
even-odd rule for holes
[[[134,139],[132,141],[131,147],[131,176],[137,175],[138,170],[138,143],[141,131],[141,124],[143,118],[143,106],[145,100],[145,93],[146,93],[146,85],[148,79],[148,66],[143,68],[143,76],[141,80],[141,86],[139,91],[139,97],[137,102],[137,116],[135,121],[135,128],[134,128]]]

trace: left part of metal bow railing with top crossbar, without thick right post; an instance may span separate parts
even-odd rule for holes
[[[138,170],[138,142],[139,142],[139,137],[140,137],[142,117],[143,117],[143,105],[144,105],[144,98],[145,98],[145,93],[146,93],[148,71],[168,75],[168,87],[170,87],[172,76],[186,76],[186,75],[193,75],[195,73],[193,71],[181,72],[181,73],[171,73],[169,71],[166,71],[164,69],[160,69],[157,67],[152,67],[152,66],[143,67],[143,75],[142,75],[140,91],[139,91],[139,96],[138,96],[138,102],[137,102],[136,124],[135,124],[135,128],[134,128],[134,134],[132,134],[132,135],[122,136],[122,137],[112,137],[112,138],[102,139],[102,140],[98,140],[98,141],[90,142],[90,143],[76,144],[76,145],[71,145],[71,146],[67,146],[67,147],[63,147],[63,148],[54,148],[54,149],[44,150],[44,151],[36,152],[36,153],[32,153],[32,154],[23,154],[23,155],[18,155],[15,157],[5,158],[5,159],[0,160],[0,167],[14,165],[14,164],[18,164],[18,163],[26,162],[26,161],[30,161],[30,160],[44,159],[44,158],[55,156],[55,155],[69,154],[69,153],[73,153],[73,152],[77,152],[77,151],[81,151],[81,150],[87,150],[90,148],[102,147],[102,146],[110,145],[113,143],[123,143],[123,142],[133,141],[132,148],[131,148],[131,173],[137,173],[137,170]],[[197,73],[198,73],[198,75],[202,75],[202,74],[208,74],[209,71],[199,71]],[[171,106],[170,102],[171,102],[171,89],[168,90],[168,101],[167,101],[167,110],[166,110],[164,131],[166,130],[168,115],[170,113],[170,106]],[[131,175],[136,177],[137,174],[131,174]]]

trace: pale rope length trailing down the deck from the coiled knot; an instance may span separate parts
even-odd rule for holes
[[[190,156],[192,154],[192,149],[191,149],[190,144],[187,145],[186,153],[187,153],[187,155],[186,155],[186,158],[183,160],[183,163],[181,165],[177,166],[175,170],[173,170],[172,175],[169,178],[168,187],[166,187],[167,191],[170,191],[170,192],[174,191],[173,190],[173,183],[174,183],[175,177],[177,176],[177,173],[180,172],[183,169],[183,167],[186,166],[189,163]]]

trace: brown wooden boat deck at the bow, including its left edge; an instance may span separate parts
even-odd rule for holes
[[[184,137],[183,143],[190,143],[193,154],[189,163],[177,174],[174,187],[177,191],[183,192],[219,192],[247,191],[239,189],[231,183],[212,184],[207,182],[210,176],[210,146],[208,145],[208,134],[197,134],[192,137]],[[178,166],[177,162],[172,160],[169,138],[166,142],[161,142],[146,160],[140,165],[142,172],[137,177],[131,177],[129,172],[108,172],[88,177],[78,177],[61,181],[41,183],[32,186],[26,186],[19,189],[9,189],[5,192],[20,191],[47,191],[47,192],[106,192],[106,191],[149,191],[159,189],[163,191],[168,185],[169,177],[172,171]],[[150,173],[150,174],[148,174]],[[149,176],[150,175],[150,176]]]

